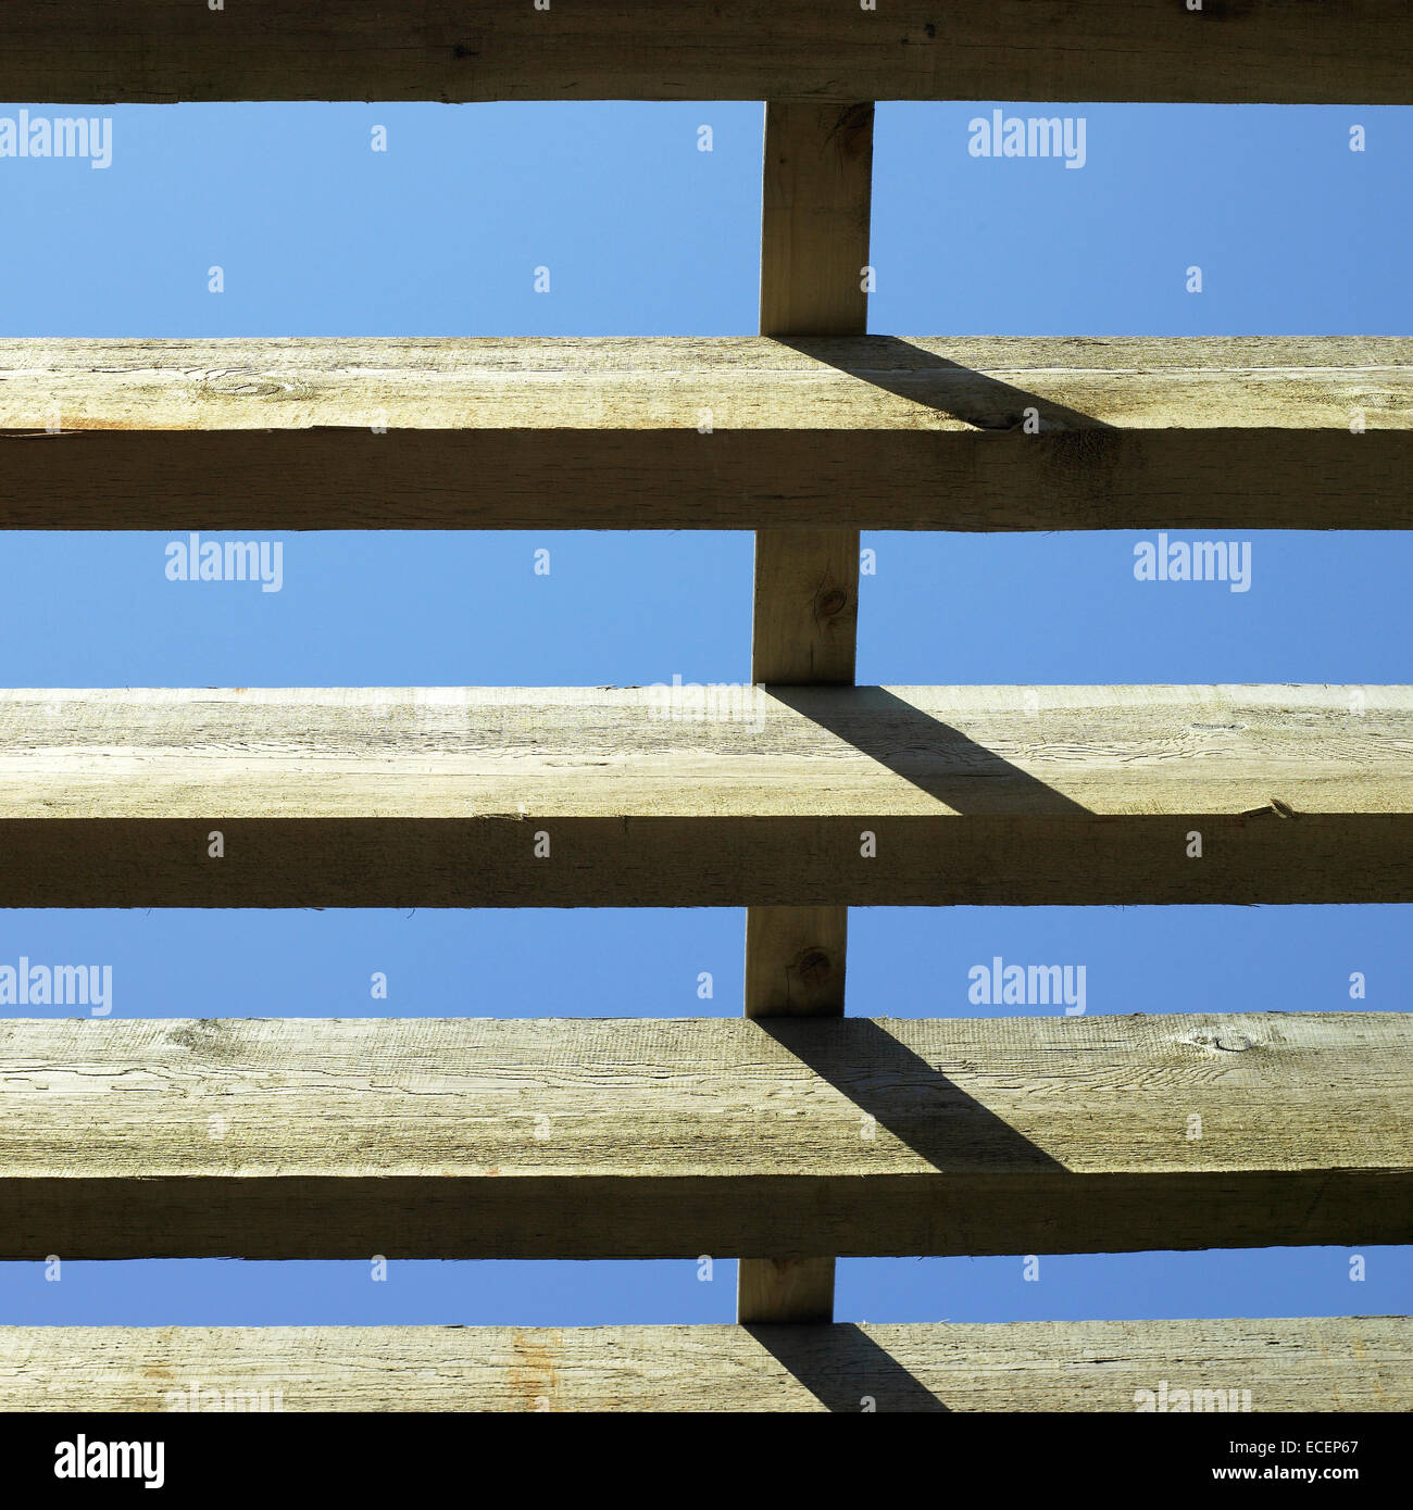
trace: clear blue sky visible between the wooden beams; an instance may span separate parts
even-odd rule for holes
[[[1413,334],[1413,110],[1062,106],[1087,162],[973,159],[982,104],[878,109],[870,329]],[[0,106],[12,115],[17,106]],[[33,107],[74,113],[68,107]],[[0,335],[742,335],[762,109],[166,106],[113,160],[0,160]],[[1020,113],[1034,113],[1023,109]],[[697,149],[712,127],[710,153]],[[370,151],[375,125],[387,153]],[[1363,153],[1350,151],[1362,125]],[[1185,287],[1203,269],[1203,291]],[[225,291],[207,288],[224,269]],[[550,291],[536,293],[536,267]],[[192,521],[199,527],[199,519]],[[284,586],[165,578],[168,535],[12,533],[5,686],[739,681],[748,535],[284,536]],[[864,683],[1413,681],[1413,536],[1257,533],[1251,590],[1138,583],[1118,533],[867,535]],[[547,577],[533,553],[550,551]],[[1410,908],[851,914],[849,1012],[975,1016],[970,965],[1084,963],[1088,1010],[1405,1010]],[[744,917],[5,912],[0,959],[113,965],[124,1016],[736,1015]],[[565,985],[558,960],[583,968]],[[367,1000],[373,969],[390,1000]],[[697,975],[715,997],[697,998]],[[1348,977],[1368,978],[1363,1003]],[[849,1259],[845,1320],[1413,1311],[1407,1249]],[[0,1323],[730,1320],[733,1265],[0,1265]]]

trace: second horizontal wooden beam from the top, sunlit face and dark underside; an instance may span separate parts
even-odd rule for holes
[[[1402,338],[0,341],[8,528],[1405,528],[1410,476]]]

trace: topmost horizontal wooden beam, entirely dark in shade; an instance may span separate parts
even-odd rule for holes
[[[0,98],[1413,101],[1402,0],[11,0]]]

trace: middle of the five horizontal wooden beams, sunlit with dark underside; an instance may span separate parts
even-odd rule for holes
[[[0,906],[1410,901],[1410,687],[0,692]]]

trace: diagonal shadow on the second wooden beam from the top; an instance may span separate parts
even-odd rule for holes
[[[855,335],[848,346],[839,338],[772,337],[801,356],[825,362],[837,371],[887,393],[951,415],[978,430],[1020,430],[1025,411],[1035,409],[1040,433],[1055,430],[1114,430],[1117,426],[1093,414],[1068,409],[1038,393],[1016,388],[975,367],[963,367],[896,335]],[[848,359],[845,359],[845,356]],[[870,365],[861,365],[869,362]]]

